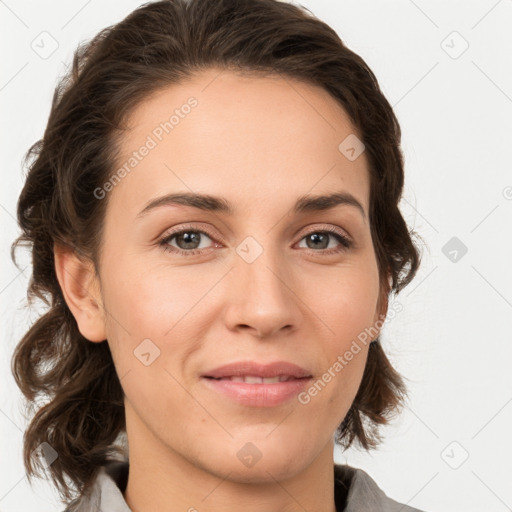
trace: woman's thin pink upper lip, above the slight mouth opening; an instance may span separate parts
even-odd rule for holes
[[[236,361],[234,363],[219,366],[205,372],[202,377],[278,377],[286,375],[297,379],[311,377],[311,374],[304,368],[287,361],[275,361],[272,363],[259,364],[254,361]]]

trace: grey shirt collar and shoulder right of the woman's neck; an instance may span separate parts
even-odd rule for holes
[[[348,488],[346,507],[338,512],[425,512],[387,496],[362,469],[335,464],[334,471],[336,486]]]

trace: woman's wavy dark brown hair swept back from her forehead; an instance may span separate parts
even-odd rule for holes
[[[211,67],[280,74],[326,89],[366,146],[371,234],[384,296],[398,293],[419,266],[415,233],[398,208],[404,181],[398,121],[364,60],[327,24],[276,0],[164,0],[102,30],[75,52],[71,71],[56,87],[43,138],[26,154],[28,173],[17,207],[22,234],[11,251],[15,261],[18,245],[31,248],[29,305],[39,298],[48,308],[12,360],[33,414],[24,463],[29,480],[39,476],[31,454],[48,443],[58,454],[48,470],[63,499],[72,497],[72,486],[80,495],[88,491],[99,466],[122,452],[116,443],[125,433],[125,417],[108,344],[88,342],[66,305],[54,243],[73,248],[98,270],[107,200],[97,200],[94,190],[113,171],[118,130],[150,93]],[[336,441],[376,447],[377,427],[405,398],[404,381],[377,338]]]

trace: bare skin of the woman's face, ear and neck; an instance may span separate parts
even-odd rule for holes
[[[55,248],[80,332],[108,340],[125,393],[125,499],[134,512],[335,512],[333,434],[368,346],[305,405],[241,405],[200,375],[241,359],[285,360],[315,381],[385,314],[366,155],[350,161],[338,150],[356,132],[322,88],[210,69],[133,111],[119,165],[190,96],[197,107],[109,192],[99,276]],[[136,218],[164,193],[191,191],[224,196],[235,213],[168,205]],[[292,214],[300,196],[333,191],[351,193],[366,218],[350,205]],[[209,231],[199,235],[201,254],[158,245],[180,227]],[[327,228],[352,246],[332,236],[328,248],[307,245],[306,235]],[[248,236],[263,249],[250,264],[236,252]],[[167,245],[192,250],[176,237]],[[148,338],[160,355],[146,366],[134,350]],[[261,453],[252,467],[237,457],[248,442]]]

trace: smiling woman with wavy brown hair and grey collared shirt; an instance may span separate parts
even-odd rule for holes
[[[49,309],[13,372],[67,511],[417,510],[333,461],[406,396],[379,333],[420,257],[398,122],[330,27],[146,4],[77,51],[28,156],[14,245]]]

